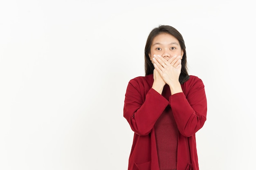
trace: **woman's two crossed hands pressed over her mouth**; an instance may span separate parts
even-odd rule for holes
[[[173,56],[168,61],[161,55],[154,55],[153,63],[155,70],[162,77],[164,82],[171,86],[179,82],[181,72],[181,56]]]

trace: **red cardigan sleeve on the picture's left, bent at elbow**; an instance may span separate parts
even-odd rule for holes
[[[148,135],[155,122],[169,104],[162,95],[150,88],[141,95],[139,83],[131,80],[128,83],[124,100],[124,117],[131,129],[138,135]]]

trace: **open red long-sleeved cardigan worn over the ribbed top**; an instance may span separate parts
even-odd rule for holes
[[[153,81],[153,74],[136,77],[126,89],[124,117],[135,132],[128,170],[159,170],[154,125],[168,104],[179,129],[177,170],[199,170],[195,132],[207,115],[202,80],[190,75],[181,85],[183,93],[171,95],[169,101],[152,88]]]

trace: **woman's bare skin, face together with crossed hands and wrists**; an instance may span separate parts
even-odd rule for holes
[[[162,94],[164,85],[168,84],[171,95],[182,93],[179,77],[183,53],[173,35],[160,33],[153,39],[148,55],[155,67],[152,86],[155,91]]]

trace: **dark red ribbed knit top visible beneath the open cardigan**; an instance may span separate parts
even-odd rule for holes
[[[169,100],[171,91],[164,86],[162,95]],[[168,105],[155,123],[155,137],[160,170],[175,170],[177,165],[178,128]]]

